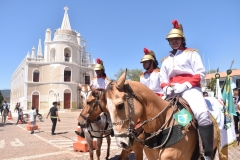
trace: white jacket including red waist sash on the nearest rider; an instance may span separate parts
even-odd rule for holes
[[[162,88],[175,83],[185,83],[189,88],[200,87],[205,77],[205,69],[200,55],[194,49],[177,50],[163,61],[160,71]]]

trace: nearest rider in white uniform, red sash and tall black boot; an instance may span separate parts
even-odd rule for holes
[[[204,158],[213,157],[213,124],[200,89],[200,81],[205,77],[202,60],[195,49],[186,48],[186,39],[181,24],[173,22],[174,28],[166,39],[173,49],[164,59],[160,71],[160,85],[166,95],[180,94],[191,107],[204,149]]]

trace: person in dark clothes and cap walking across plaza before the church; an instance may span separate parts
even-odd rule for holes
[[[53,107],[49,110],[47,117],[46,117],[48,119],[48,116],[50,115],[50,118],[52,120],[52,135],[55,135],[57,121],[60,122],[57,104],[58,104],[57,102],[53,102]]]

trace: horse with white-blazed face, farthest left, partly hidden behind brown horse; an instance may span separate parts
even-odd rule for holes
[[[86,101],[88,96],[91,94],[91,89],[89,85],[81,85],[79,84],[79,89],[81,91],[81,101],[83,105],[86,105]],[[90,155],[90,160],[93,160],[93,137],[103,137],[102,132],[89,132],[87,127],[91,127],[92,130],[104,130],[105,126],[107,124],[107,118],[104,115],[101,115],[98,119],[95,119],[95,121],[92,121],[93,123],[90,124],[90,126],[81,126],[81,129],[83,129],[86,141],[89,146],[89,155]],[[107,155],[106,159],[109,157],[109,150],[110,150],[110,144],[111,144],[111,138],[110,136],[106,136],[107,139]],[[97,154],[97,159],[100,160],[100,155],[101,155],[101,146],[102,146],[102,138],[97,138],[97,149],[96,149],[96,154]]]

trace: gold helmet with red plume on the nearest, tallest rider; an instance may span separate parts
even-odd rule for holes
[[[170,39],[170,38],[177,38],[177,37],[182,37],[185,40],[185,36],[183,34],[183,27],[181,24],[178,24],[177,20],[173,20],[172,21],[173,24],[173,29],[171,29],[171,31],[168,33],[166,39]]]

